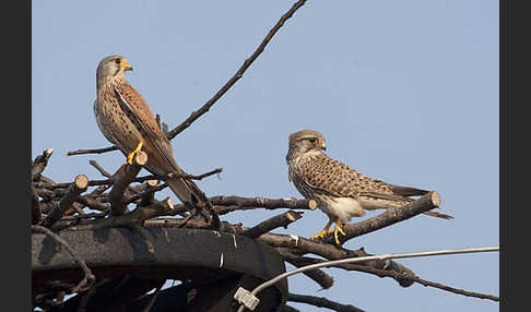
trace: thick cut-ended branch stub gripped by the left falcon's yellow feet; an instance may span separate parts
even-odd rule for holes
[[[109,193],[110,200],[110,207],[113,215],[122,215],[127,211],[127,205],[123,199],[123,192],[126,191],[127,187],[133,181],[134,177],[140,172],[142,166],[148,163],[148,154],[143,151],[140,151],[138,154],[134,155],[133,164],[132,165],[125,165],[118,171],[117,175],[114,177],[113,189]]]

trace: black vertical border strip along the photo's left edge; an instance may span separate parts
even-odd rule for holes
[[[2,285],[3,311],[31,311],[31,44],[32,1],[4,3],[2,41]],[[4,171],[5,172],[5,171]]]

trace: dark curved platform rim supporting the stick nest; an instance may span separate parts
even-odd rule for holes
[[[63,230],[60,237],[86,262],[97,280],[123,275],[188,280],[203,290],[198,293],[201,301],[214,298],[204,311],[223,311],[220,307],[231,304],[231,296],[240,284],[251,289],[285,272],[284,262],[272,248],[247,237],[202,229],[145,229],[153,253],[145,240],[128,228]],[[40,233],[32,235],[32,271],[36,295],[48,291],[51,280],[75,284],[83,277],[70,254]],[[224,292],[215,295],[221,289]],[[263,311],[275,311],[286,296],[287,281],[283,280],[260,293],[259,305]]]

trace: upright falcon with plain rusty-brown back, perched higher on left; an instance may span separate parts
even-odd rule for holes
[[[146,169],[154,175],[184,171],[173,157],[172,145],[157,127],[155,118],[142,96],[125,76],[131,71],[129,61],[120,56],[104,58],[96,71],[97,99],[94,113],[105,137],[118,146],[132,164],[134,153],[148,154]],[[208,202],[204,193],[190,180],[167,178],[164,181],[182,202],[203,207]]]

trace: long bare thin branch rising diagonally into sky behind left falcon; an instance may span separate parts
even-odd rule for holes
[[[298,10],[298,8],[303,7],[306,0],[299,0],[295,4],[293,4],[292,9],[287,11],[284,15],[280,17],[280,20],[276,22],[276,24],[271,28],[263,38],[262,43],[258,46],[258,48],[255,50],[255,52],[245,60],[245,62],[241,64],[241,67],[238,69],[238,71],[228,80],[228,82],[220,89],[217,93],[206,101],[199,110],[193,111],[190,117],[188,117],[181,124],[177,125],[174,130],[169,131],[167,133],[167,136],[169,140],[174,139],[177,134],[182,132],[185,129],[190,127],[190,124],[196,121],[199,117],[201,117],[203,113],[210,110],[210,108],[240,79],[244,76],[245,71],[252,64],[252,62],[260,56],[260,53],[263,51],[266,46],[271,41],[273,36],[279,32],[279,29],[284,25],[284,23],[292,17],[292,15],[295,13],[295,11]]]

